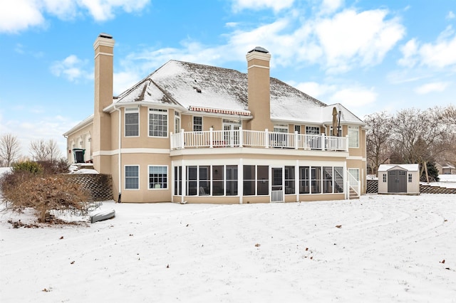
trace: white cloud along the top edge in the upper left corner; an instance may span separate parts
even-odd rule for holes
[[[45,26],[43,15],[63,20],[90,14],[96,21],[114,18],[114,11],[127,13],[144,9],[150,0],[14,0],[0,1],[0,33],[17,33],[33,26]]]

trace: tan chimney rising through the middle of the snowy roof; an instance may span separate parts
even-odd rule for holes
[[[269,87],[269,51],[257,46],[250,50],[247,58],[247,80],[249,111],[254,118],[247,123],[252,130],[269,129],[272,131],[270,87]]]

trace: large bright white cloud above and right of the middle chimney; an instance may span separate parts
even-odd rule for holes
[[[238,58],[249,48],[263,46],[273,55],[272,66],[310,63],[322,65],[327,73],[343,73],[357,66],[377,65],[403,38],[405,27],[400,20],[387,16],[385,10],[354,9],[324,18],[287,14],[251,30],[238,28],[226,36],[230,51],[240,50],[234,54]]]

